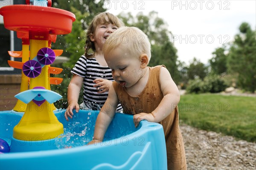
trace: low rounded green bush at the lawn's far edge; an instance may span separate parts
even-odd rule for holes
[[[218,76],[205,77],[201,79],[189,80],[186,92],[189,94],[199,93],[219,93],[227,88],[227,83]]]

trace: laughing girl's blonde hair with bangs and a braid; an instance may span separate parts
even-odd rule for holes
[[[123,26],[122,21],[119,20],[118,17],[108,12],[99,13],[93,18],[92,22],[90,23],[90,26],[87,28],[86,41],[84,46],[85,57],[87,58],[94,57],[96,48],[94,43],[90,40],[90,36],[95,32],[96,27],[101,24],[109,24],[109,23],[117,26],[118,28]],[[89,50],[93,52],[89,52]]]

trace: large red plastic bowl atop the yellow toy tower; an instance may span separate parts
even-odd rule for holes
[[[28,33],[69,34],[76,16],[63,9],[33,5],[12,5],[0,8],[6,29]]]

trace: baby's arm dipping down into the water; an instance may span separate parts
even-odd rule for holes
[[[115,115],[118,102],[119,100],[116,95],[116,92],[113,88],[113,85],[111,85],[108,92],[108,99],[106,100],[105,104],[101,108],[101,111],[99,112],[99,115],[96,119],[94,135],[93,135],[94,141],[99,142],[103,140],[105,132],[108,129],[108,126]],[[92,141],[89,144],[92,144],[92,143],[94,142]]]

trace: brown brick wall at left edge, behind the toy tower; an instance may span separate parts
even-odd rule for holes
[[[21,75],[0,75],[0,111],[9,111],[15,107],[20,93]]]

